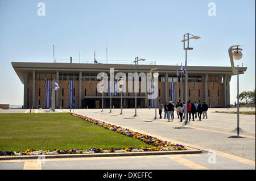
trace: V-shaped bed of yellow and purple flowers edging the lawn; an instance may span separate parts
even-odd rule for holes
[[[99,125],[101,127],[104,127],[106,129],[109,129],[110,131],[114,131],[120,134],[123,134],[125,136],[137,138],[143,142],[146,142],[146,144],[153,145],[152,148],[123,148],[123,149],[115,149],[115,148],[107,148],[107,149],[72,149],[72,150],[24,150],[24,151],[18,151],[18,152],[11,152],[11,151],[1,151],[0,155],[55,155],[55,154],[92,154],[92,153],[126,153],[126,152],[143,152],[143,151],[172,151],[172,150],[187,150],[187,148],[183,145],[179,144],[171,144],[171,142],[159,140],[156,137],[148,136],[146,134],[138,133],[131,131],[130,129],[117,127],[116,125],[105,123],[104,121],[99,121],[92,119],[90,117],[82,116],[77,113],[71,113],[68,112],[70,115],[79,117],[85,121],[89,121],[90,123]]]

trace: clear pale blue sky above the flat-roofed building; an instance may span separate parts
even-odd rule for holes
[[[39,2],[46,16],[38,16]],[[216,3],[216,16],[208,3]],[[139,56],[158,65],[184,64],[180,40],[191,40],[188,65],[230,66],[228,48],[245,45],[236,65],[247,67],[240,75],[240,92],[255,88],[255,1],[151,1],[0,0],[0,103],[23,104],[23,85],[11,61],[52,61],[55,58],[106,58],[134,60]],[[230,103],[237,94],[237,76],[230,82]]]

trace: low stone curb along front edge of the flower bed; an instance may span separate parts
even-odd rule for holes
[[[82,158],[82,157],[129,157],[129,156],[146,156],[146,155],[168,155],[168,154],[197,154],[202,153],[202,150],[179,150],[179,151],[145,151],[145,152],[129,152],[129,153],[93,153],[93,154],[58,154],[58,155],[44,155],[46,159],[49,158]],[[38,159],[42,155],[22,155],[22,156],[2,156],[1,160],[12,159]]]

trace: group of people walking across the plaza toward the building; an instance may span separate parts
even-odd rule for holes
[[[179,103],[177,102],[176,106],[174,103],[170,100],[167,104],[166,102],[164,105],[160,101],[158,104],[158,110],[159,110],[159,118],[162,119],[162,110],[164,110],[164,119],[168,119],[168,122],[170,119],[174,120],[174,112],[177,113],[177,118],[180,119],[180,122],[182,122],[183,119],[185,119],[185,111],[187,108],[187,115],[188,120],[190,121],[192,118],[192,121],[195,121],[197,116],[199,117],[199,120],[201,121],[201,115],[203,114],[203,119],[207,117],[207,111],[208,111],[208,105],[204,102],[202,105],[195,103],[187,102],[187,105],[185,102]],[[192,114],[192,117],[191,117]]]

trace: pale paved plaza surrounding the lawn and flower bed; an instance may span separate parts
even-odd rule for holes
[[[175,114],[174,121],[156,119],[155,109],[75,109],[74,112],[102,120],[133,131],[146,133],[164,141],[183,144],[203,150],[202,154],[148,155],[137,157],[94,157],[57,158],[38,163],[33,159],[0,161],[0,169],[255,169],[255,115],[240,115],[243,132],[237,138],[233,130],[237,127],[237,115],[215,113],[214,111],[237,111],[236,108],[210,108],[208,119],[190,121],[183,126]],[[255,111],[255,108],[242,108],[241,111]],[[24,112],[30,110],[0,110],[3,112]],[[52,112],[51,110],[32,110],[32,113]],[[55,112],[69,112],[61,109]],[[73,110],[72,110],[73,112]],[[158,115],[158,111],[157,111]],[[163,116],[163,114],[162,114]],[[159,117],[159,115],[158,115]],[[210,152],[210,153],[209,153]]]

